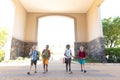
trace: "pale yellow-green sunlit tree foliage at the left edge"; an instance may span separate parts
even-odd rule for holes
[[[0,28],[0,49],[5,45],[8,38],[8,30],[4,27]]]

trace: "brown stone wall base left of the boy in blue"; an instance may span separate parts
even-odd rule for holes
[[[16,59],[17,57],[27,57],[29,51],[35,42],[24,42],[15,38],[12,38],[10,59]]]

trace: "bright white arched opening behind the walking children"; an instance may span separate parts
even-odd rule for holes
[[[50,45],[53,60],[64,55],[65,45],[70,44],[74,54],[74,19],[66,16],[45,16],[38,19],[38,48],[40,52],[45,45]]]

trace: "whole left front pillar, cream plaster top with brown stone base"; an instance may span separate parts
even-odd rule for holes
[[[27,12],[20,4],[19,0],[12,0],[15,8],[14,25],[12,31],[12,44],[10,59],[16,59],[19,56],[26,56],[24,51],[24,35],[26,27]]]

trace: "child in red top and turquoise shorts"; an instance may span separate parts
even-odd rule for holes
[[[78,52],[78,62],[81,64],[81,71],[86,73],[85,70],[85,58],[86,58],[86,53],[84,51],[84,47],[80,46],[80,51]]]

